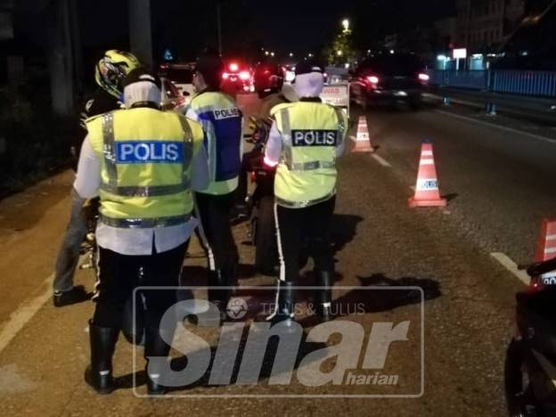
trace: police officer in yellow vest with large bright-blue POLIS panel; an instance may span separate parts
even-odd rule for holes
[[[99,245],[94,316],[89,324],[91,365],[86,382],[100,394],[114,387],[112,355],[127,299],[139,285],[178,285],[192,218],[192,189],[208,184],[202,128],[175,112],[159,110],[159,80],[133,70],[124,89],[127,110],[86,121],[74,184],[81,198],[100,192],[96,239]],[[175,328],[159,329],[160,319],[176,302],[176,290],[145,290],[147,388],[166,392],[154,357],[167,357],[164,341]],[[159,364],[159,362],[157,362]],[[160,366],[160,364],[158,365]]]

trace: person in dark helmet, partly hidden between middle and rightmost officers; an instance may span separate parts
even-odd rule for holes
[[[260,63],[255,67],[253,84],[258,98],[261,100],[258,112],[249,118],[249,131],[252,132],[253,141],[266,143],[272,119],[270,110],[283,102],[290,102],[283,94],[284,71],[279,65]],[[240,184],[236,196],[238,212],[245,210],[247,198],[247,174],[259,165],[260,152],[258,149],[243,154],[241,159]]]

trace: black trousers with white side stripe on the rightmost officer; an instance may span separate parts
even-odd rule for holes
[[[275,206],[281,281],[298,282],[299,258],[304,249],[315,261],[317,271],[334,271],[330,226],[335,204],[336,198],[332,197],[307,208]]]

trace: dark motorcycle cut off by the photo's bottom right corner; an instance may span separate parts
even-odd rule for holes
[[[504,364],[504,382],[512,417],[556,416],[555,260],[527,268],[531,285],[516,296],[518,334]]]

